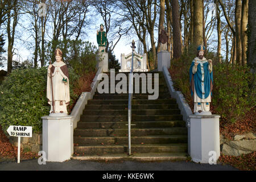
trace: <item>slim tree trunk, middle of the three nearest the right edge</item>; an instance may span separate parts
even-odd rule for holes
[[[242,18],[241,18],[241,40],[242,40],[242,65],[246,65],[246,51],[247,51],[247,34],[246,26],[248,23],[248,1],[242,1]]]

